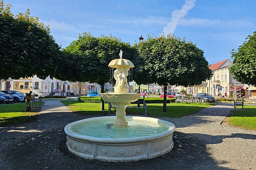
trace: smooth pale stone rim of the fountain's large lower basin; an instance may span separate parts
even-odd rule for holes
[[[151,136],[142,136],[142,137],[131,137],[131,138],[106,138],[106,137],[93,137],[93,136],[86,136],[86,135],[81,135],[79,133],[73,132],[71,130],[71,127],[77,123],[82,123],[82,122],[89,122],[89,121],[94,121],[94,120],[102,120],[102,119],[115,119],[116,116],[102,116],[102,117],[95,117],[95,118],[88,118],[88,119],[82,119],[78,120],[76,122],[69,123],[68,125],[65,126],[64,131],[66,135],[73,137],[78,140],[87,140],[89,142],[99,142],[99,143],[137,143],[137,142],[147,142],[147,141],[152,141],[156,139],[161,139],[166,136],[170,136],[173,134],[175,130],[175,125],[171,122],[162,120],[162,119],[157,119],[157,118],[148,118],[148,117],[141,117],[141,116],[125,116],[125,118],[130,118],[130,119],[147,119],[148,121],[151,122],[160,122],[163,123],[168,127],[168,130],[159,133],[157,135],[151,135]]]

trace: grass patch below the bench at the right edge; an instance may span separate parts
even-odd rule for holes
[[[238,109],[242,106],[237,106]],[[245,110],[231,110],[227,122],[232,126],[256,130],[256,106],[244,105]]]

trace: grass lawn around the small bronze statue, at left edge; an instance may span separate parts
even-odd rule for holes
[[[36,120],[41,108],[31,108],[32,112],[25,112],[25,106],[26,103],[0,105],[0,127]]]

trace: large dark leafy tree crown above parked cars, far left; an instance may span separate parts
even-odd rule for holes
[[[0,1],[0,79],[53,77],[61,62],[61,51],[49,27],[26,13],[14,16],[10,4]]]

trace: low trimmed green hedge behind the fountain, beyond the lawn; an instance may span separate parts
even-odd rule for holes
[[[143,99],[142,97],[140,99]],[[174,98],[168,98],[166,100],[166,103],[171,103],[175,102],[176,99]],[[79,102],[84,102],[84,103],[100,103],[101,102],[101,97],[85,97],[81,96],[78,98]],[[145,98],[146,103],[163,103],[164,99],[163,98]],[[107,101],[104,101],[104,103],[108,103]]]

